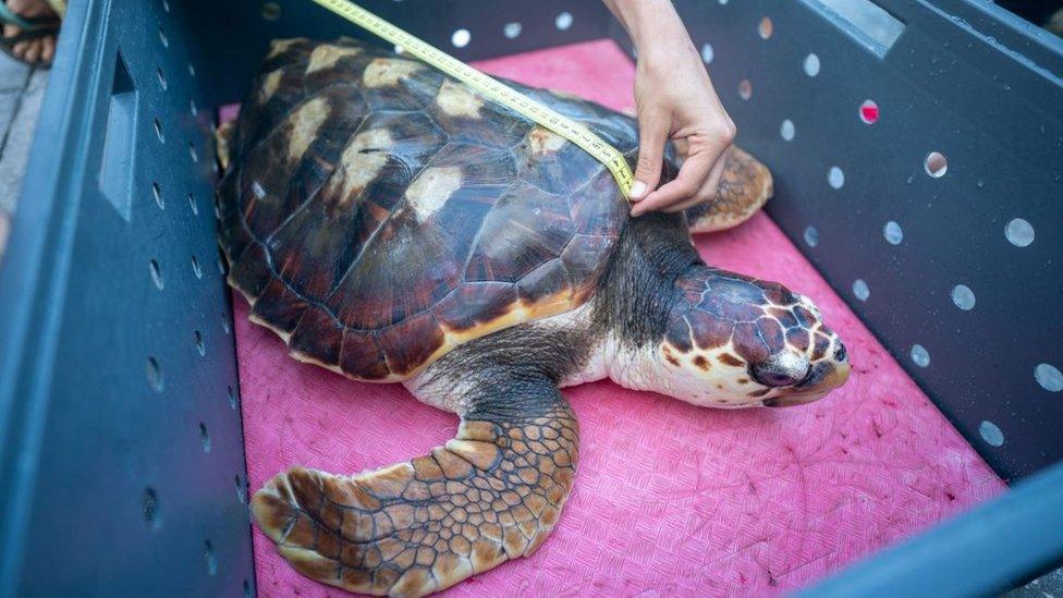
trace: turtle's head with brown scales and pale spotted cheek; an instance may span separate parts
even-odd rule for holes
[[[785,286],[698,266],[676,282],[661,390],[704,406],[810,403],[845,383],[845,345]]]

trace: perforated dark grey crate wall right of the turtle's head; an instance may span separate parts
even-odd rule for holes
[[[1040,364],[1063,369],[1063,40],[988,2],[877,3],[905,24],[882,58],[815,0],[676,2],[698,48],[711,45],[738,142],[774,173],[772,219],[989,464],[1022,477],[1063,459],[1063,393],[1047,367],[1047,385],[1035,379]],[[859,118],[867,99],[875,124]],[[948,158],[939,179],[930,151]],[[1028,246],[1005,236],[1016,218],[1035,231]],[[969,310],[953,302],[960,284]]]

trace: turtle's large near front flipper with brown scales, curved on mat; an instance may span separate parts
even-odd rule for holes
[[[367,594],[421,596],[532,554],[572,489],[578,425],[548,379],[499,390],[427,456],[278,475],[256,492],[255,520],[304,575]]]

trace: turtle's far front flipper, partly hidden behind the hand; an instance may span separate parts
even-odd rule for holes
[[[691,233],[722,231],[745,222],[771,197],[771,172],[759,160],[732,146],[716,196],[687,208]]]

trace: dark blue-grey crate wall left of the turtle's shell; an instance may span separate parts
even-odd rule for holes
[[[254,590],[182,4],[72,2],[63,24],[0,269],[0,596]]]

